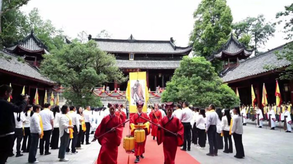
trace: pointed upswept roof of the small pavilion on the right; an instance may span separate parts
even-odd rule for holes
[[[244,44],[240,43],[233,37],[232,33],[229,40],[217,52],[213,53],[210,59],[217,58],[225,60],[228,57],[238,57],[239,59],[246,59],[252,54],[252,50],[248,50]]]

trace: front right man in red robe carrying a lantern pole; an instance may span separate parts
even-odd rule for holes
[[[175,156],[178,146],[183,145],[184,127],[177,117],[173,117],[173,102],[166,103],[167,116],[162,118],[157,132],[157,143],[163,142],[164,164],[175,164]],[[175,133],[172,134],[161,127]]]

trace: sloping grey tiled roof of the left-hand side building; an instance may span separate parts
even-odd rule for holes
[[[0,54],[0,69],[32,78],[32,80],[36,79],[51,85],[54,84],[54,81],[42,76],[38,70],[30,66],[28,63],[18,61],[18,58],[15,55],[3,50],[0,50]]]

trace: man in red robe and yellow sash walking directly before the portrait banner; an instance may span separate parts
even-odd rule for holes
[[[146,113],[142,112],[142,107],[144,106],[144,103],[139,101],[136,103],[137,106],[137,113],[133,114],[130,118],[130,128],[131,128],[131,135],[134,136],[134,125],[138,125],[138,123],[144,124],[144,130],[145,130],[145,139],[142,143],[134,142],[134,156],[136,156],[136,159],[134,160],[134,163],[139,162],[139,157],[144,158],[142,155],[144,153],[144,146],[146,144],[147,135],[149,135],[149,122],[147,120],[149,119],[149,116]],[[146,118],[147,120],[143,119]]]

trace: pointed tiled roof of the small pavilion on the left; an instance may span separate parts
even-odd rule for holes
[[[26,50],[29,52],[44,51],[46,54],[48,53],[47,46],[45,46],[44,43],[42,43],[42,41],[35,36],[33,30],[28,36],[26,36],[24,39],[18,42],[15,46],[12,46],[7,49],[13,52],[14,50],[16,50],[16,48],[21,48],[22,50]]]

